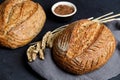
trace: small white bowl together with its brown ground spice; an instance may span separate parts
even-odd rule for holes
[[[55,3],[51,11],[54,15],[54,18],[58,21],[68,21],[74,14],[77,12],[76,6],[68,1],[60,1]]]

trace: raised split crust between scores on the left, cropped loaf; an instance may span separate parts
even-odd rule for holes
[[[31,3],[31,1],[29,1],[29,3]],[[14,28],[16,28],[17,26],[19,26],[20,24],[22,24],[23,22],[25,22],[27,19],[29,19],[38,10],[38,4],[33,3],[32,10],[29,10],[29,12],[24,11],[24,9],[27,8],[27,5],[29,5],[28,1],[27,2],[25,1],[13,6],[12,11],[16,11],[17,9],[16,7],[18,7],[19,5],[21,5],[20,6],[21,8],[19,8],[20,12],[16,14],[19,16],[17,16],[15,20],[12,20],[16,15],[13,15],[13,14],[9,15],[9,21],[8,21],[8,24],[6,24],[5,33],[4,33],[5,35],[8,34]]]

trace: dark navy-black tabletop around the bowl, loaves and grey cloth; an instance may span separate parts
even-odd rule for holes
[[[0,0],[2,2],[3,0]],[[72,20],[68,22],[58,22],[54,20],[50,13],[51,6],[61,0],[33,0],[39,2],[47,14],[47,21],[42,32],[32,41],[38,41],[48,30],[53,30],[61,25],[68,24],[82,18],[91,16],[98,17],[105,13],[114,11],[120,12],[120,0],[66,0],[73,2],[78,12]],[[28,45],[15,50],[0,47],[0,80],[43,80],[27,64],[26,50]],[[120,75],[110,79],[120,80]]]

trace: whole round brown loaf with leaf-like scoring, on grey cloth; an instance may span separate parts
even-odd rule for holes
[[[104,24],[83,19],[69,24],[55,38],[53,59],[67,72],[84,74],[104,65],[115,47],[115,38]]]

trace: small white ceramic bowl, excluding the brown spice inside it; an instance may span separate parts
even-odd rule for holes
[[[70,13],[70,14],[65,14],[65,15],[57,14],[57,13],[55,12],[55,9],[56,9],[58,6],[60,6],[60,5],[66,5],[66,6],[72,7],[74,11],[73,11],[72,13]],[[71,18],[75,15],[75,13],[77,12],[77,8],[76,8],[76,6],[75,6],[73,3],[71,3],[71,2],[68,2],[68,1],[60,1],[60,2],[55,3],[55,4],[52,6],[51,11],[52,11],[52,13],[54,14],[54,16],[56,17],[57,20],[66,21],[66,20],[71,19]]]

